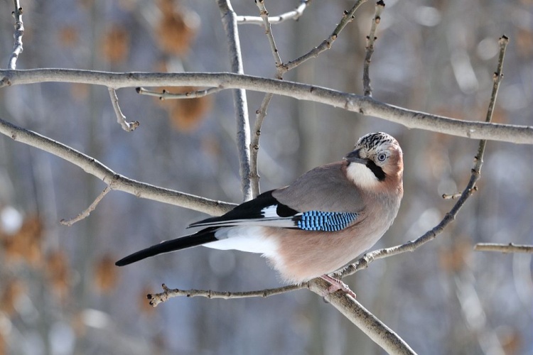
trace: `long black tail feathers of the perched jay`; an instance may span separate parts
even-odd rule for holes
[[[136,261],[156,256],[162,253],[170,253],[171,251],[177,251],[181,249],[192,248],[193,246],[199,246],[202,244],[210,243],[211,241],[217,241],[215,238],[215,230],[212,228],[198,231],[195,234],[189,236],[182,236],[181,238],[172,239],[170,241],[162,241],[160,244],[150,246],[149,248],[137,251],[125,258],[120,259],[116,263],[116,266],[126,266]]]

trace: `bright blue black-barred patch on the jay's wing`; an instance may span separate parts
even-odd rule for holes
[[[294,221],[304,231],[340,231],[356,218],[357,213],[351,212],[308,211],[294,217]]]

